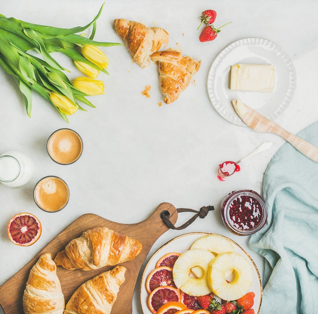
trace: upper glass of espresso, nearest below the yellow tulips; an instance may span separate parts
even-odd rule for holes
[[[46,149],[58,164],[73,164],[83,152],[83,141],[72,129],[58,129],[47,140]]]

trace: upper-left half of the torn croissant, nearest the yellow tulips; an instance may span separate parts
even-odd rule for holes
[[[117,34],[125,40],[133,60],[143,68],[149,66],[150,54],[169,42],[169,34],[160,27],[147,27],[124,18],[115,19],[114,25]]]

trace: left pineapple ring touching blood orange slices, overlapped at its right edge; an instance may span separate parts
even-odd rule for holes
[[[173,267],[173,280],[176,286],[190,296],[204,296],[211,292],[208,282],[210,262],[214,255],[206,250],[193,249],[182,253]],[[200,266],[204,275],[201,278],[189,276],[193,267]]]

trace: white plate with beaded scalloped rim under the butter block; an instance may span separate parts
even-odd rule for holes
[[[230,90],[231,66],[236,63],[273,64],[273,93],[238,92]],[[208,93],[213,107],[227,121],[246,126],[232,108],[233,99],[266,116],[276,119],[288,107],[296,87],[296,72],[287,54],[269,40],[245,38],[223,49],[213,61],[208,75]]]

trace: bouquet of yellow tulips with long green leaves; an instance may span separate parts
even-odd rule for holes
[[[94,41],[96,17],[83,27],[70,29],[31,24],[7,18],[0,14],[0,66],[11,74],[23,94],[26,112],[31,117],[32,94],[34,90],[50,102],[62,118],[84,110],[78,102],[95,108],[85,96],[104,94],[103,81],[94,80],[100,71],[107,73],[108,58],[97,46],[115,46],[119,43]],[[92,34],[86,38],[76,33],[93,25]],[[43,59],[30,54],[34,50]],[[52,57],[61,52],[74,60],[75,66],[88,77],[78,77],[71,82],[62,71],[68,71]]]

